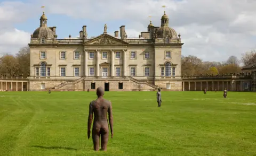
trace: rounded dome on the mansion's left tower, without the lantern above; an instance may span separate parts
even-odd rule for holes
[[[33,33],[33,38],[54,38],[53,31],[48,27],[39,27]]]

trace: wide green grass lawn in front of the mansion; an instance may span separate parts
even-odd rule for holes
[[[256,94],[106,92],[114,138],[87,139],[95,92],[0,92],[0,155],[256,155]]]

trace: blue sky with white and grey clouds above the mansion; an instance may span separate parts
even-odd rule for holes
[[[149,20],[159,26],[166,11],[169,26],[185,43],[183,55],[210,61],[240,58],[256,48],[255,7],[255,0],[0,0],[0,54],[15,54],[28,44],[43,10],[58,38],[79,36],[83,25],[88,36],[98,36],[105,23],[109,34],[125,25],[129,37],[138,37]]]

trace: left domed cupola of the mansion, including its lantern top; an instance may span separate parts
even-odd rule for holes
[[[40,18],[40,27],[34,31],[34,33],[31,37],[32,38],[40,38],[40,39],[54,38],[54,33],[53,33],[52,29],[47,27],[47,17],[44,14],[44,12]]]

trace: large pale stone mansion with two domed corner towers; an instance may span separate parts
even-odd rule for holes
[[[183,43],[165,12],[159,22],[138,38],[128,38],[124,25],[111,36],[105,24],[98,37],[87,38],[85,25],[79,38],[57,39],[43,13],[29,43],[29,90],[181,91]]]

